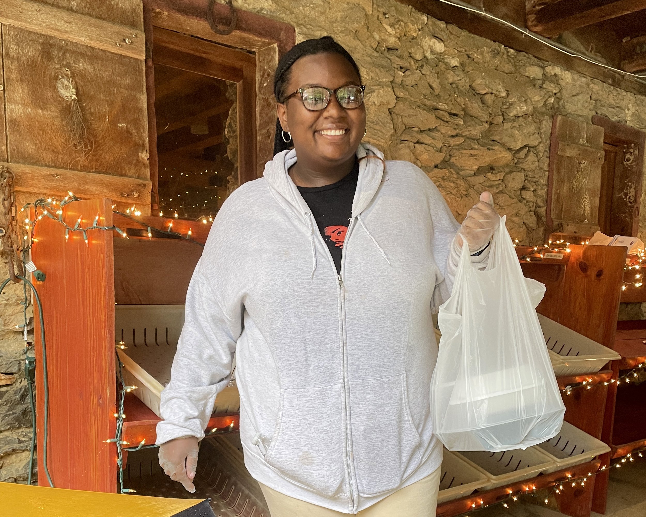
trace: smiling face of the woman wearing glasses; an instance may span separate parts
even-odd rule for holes
[[[308,86],[336,90],[346,85],[360,86],[352,65],[339,54],[315,54],[304,56],[292,65],[285,94]],[[366,129],[366,107],[362,104],[355,109],[344,109],[334,95],[320,111],[307,110],[298,94],[278,104],[277,110],[283,129],[291,132],[298,162],[311,168],[323,169],[347,162],[357,152]],[[343,132],[329,134],[331,130]]]

